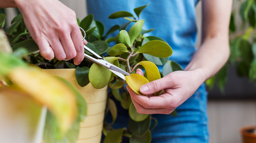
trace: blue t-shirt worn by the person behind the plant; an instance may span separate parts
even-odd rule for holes
[[[195,6],[198,0],[87,0],[88,14],[105,25],[105,32],[110,27],[128,22],[123,18],[108,19],[117,11],[128,11],[136,16],[134,8],[147,5],[139,15],[145,19],[143,29],[155,30],[146,36],[157,36],[172,47],[174,60],[185,66],[196,51],[197,27]],[[116,36],[116,35],[115,35]]]

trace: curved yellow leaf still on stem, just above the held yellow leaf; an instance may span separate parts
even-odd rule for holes
[[[141,65],[141,66],[144,67],[144,69],[147,73],[147,79],[148,79],[149,82],[161,78],[158,67],[153,62],[141,61],[138,64],[136,64],[135,67],[137,67],[138,65]]]

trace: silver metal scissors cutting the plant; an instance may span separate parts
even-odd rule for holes
[[[82,38],[82,40],[85,39],[85,31],[83,28],[79,27],[80,30],[83,32],[84,36]],[[91,50],[90,48],[88,48],[87,46],[84,45],[84,49],[86,51],[88,51],[89,53],[93,54],[96,58],[87,55],[86,53],[84,53],[84,57],[106,67],[108,70],[110,70],[111,72],[115,73],[117,76],[119,76],[121,79],[125,80],[125,76],[124,75],[130,75],[130,73],[120,69],[119,67],[109,63],[108,61],[106,61],[104,58],[102,58],[101,56],[99,56],[98,54],[96,54],[93,50]],[[124,74],[124,75],[123,75]]]

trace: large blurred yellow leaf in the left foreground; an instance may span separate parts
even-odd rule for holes
[[[56,117],[61,132],[65,133],[71,127],[77,114],[76,101],[63,82],[36,68],[15,68],[10,78],[34,100],[47,106]]]

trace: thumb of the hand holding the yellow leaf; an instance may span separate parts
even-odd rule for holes
[[[170,83],[168,83],[168,80],[166,80],[166,78],[163,77],[158,80],[154,80],[150,83],[142,85],[141,87],[139,87],[139,91],[142,94],[149,95],[169,87],[171,87]]]

